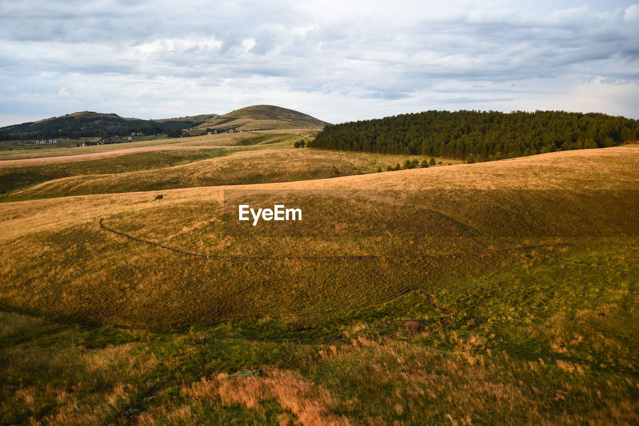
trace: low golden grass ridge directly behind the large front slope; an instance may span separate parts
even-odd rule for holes
[[[8,194],[10,200],[166,190],[192,186],[240,185],[305,181],[371,173],[396,156],[336,153],[310,149],[265,149],[231,152],[230,155],[185,165],[119,174],[89,174],[51,179]],[[143,167],[144,169],[148,167]],[[397,176],[399,178],[399,176]]]

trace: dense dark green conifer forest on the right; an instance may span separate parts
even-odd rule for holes
[[[327,125],[309,148],[489,161],[636,141],[639,121],[565,111],[429,110]]]

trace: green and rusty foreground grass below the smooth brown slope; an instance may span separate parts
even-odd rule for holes
[[[144,331],[3,314],[3,423],[633,422],[638,248],[591,241],[451,278],[430,290],[448,314],[415,292],[314,324]]]

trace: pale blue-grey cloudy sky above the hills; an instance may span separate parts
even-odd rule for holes
[[[639,119],[639,3],[0,0],[0,126],[256,104],[330,123],[433,109]]]

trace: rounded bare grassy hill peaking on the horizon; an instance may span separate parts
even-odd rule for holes
[[[225,131],[231,128],[237,130],[323,128],[328,124],[330,123],[292,109],[274,105],[252,105],[206,120],[197,127]]]

